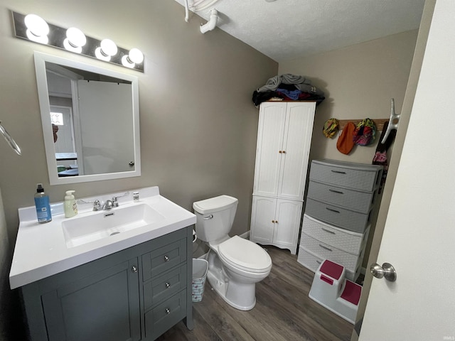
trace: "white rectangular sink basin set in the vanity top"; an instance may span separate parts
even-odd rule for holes
[[[144,227],[164,216],[146,204],[115,207],[85,217],[74,217],[62,222],[68,248],[108,238],[132,229]]]

